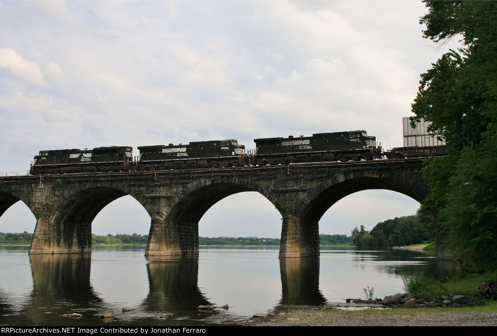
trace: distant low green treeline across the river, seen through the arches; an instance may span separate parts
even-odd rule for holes
[[[116,234],[115,236],[108,234],[106,236],[91,235],[91,242],[94,245],[146,245],[149,235],[141,235],[137,233]],[[32,233],[3,233],[0,232],[0,244],[19,244],[29,245],[33,239]],[[279,238],[256,238],[256,237],[199,237],[199,245],[272,245],[279,246]],[[346,235],[319,235],[320,245],[352,245],[354,237]]]

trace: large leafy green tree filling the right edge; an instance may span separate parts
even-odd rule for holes
[[[439,244],[457,257],[497,268],[497,1],[423,1],[423,36],[463,47],[421,74],[413,120],[447,141],[449,156],[431,160],[424,176],[432,195]]]

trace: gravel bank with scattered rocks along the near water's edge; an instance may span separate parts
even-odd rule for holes
[[[474,307],[482,296],[433,295],[426,300],[410,293],[382,299],[346,299],[343,305],[289,306],[255,314],[244,326],[497,326],[497,312],[468,312],[437,307]],[[421,309],[407,309],[407,308]],[[422,309],[429,308],[429,309]]]

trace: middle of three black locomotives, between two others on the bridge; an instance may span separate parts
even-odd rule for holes
[[[189,144],[140,146],[138,170],[233,167],[245,165],[245,146],[235,139]]]

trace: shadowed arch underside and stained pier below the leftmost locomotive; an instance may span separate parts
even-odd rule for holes
[[[91,253],[91,222],[107,204],[126,195],[133,196],[126,186],[111,182],[70,188],[46,218],[38,218],[30,253]]]

